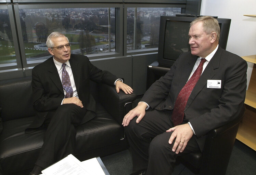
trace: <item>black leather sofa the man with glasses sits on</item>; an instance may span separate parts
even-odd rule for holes
[[[92,120],[76,127],[75,156],[80,161],[129,147],[121,121],[136,99],[135,93],[117,93],[114,85],[91,82],[90,91],[96,101],[97,113]],[[34,167],[45,132],[45,129],[39,129],[25,133],[36,116],[32,105],[31,77],[0,81],[0,107],[3,120],[0,167],[5,175],[22,175]]]

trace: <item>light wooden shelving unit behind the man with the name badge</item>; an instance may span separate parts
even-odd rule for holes
[[[256,55],[242,56],[242,58],[254,65],[244,102],[246,111],[236,139],[256,150]]]

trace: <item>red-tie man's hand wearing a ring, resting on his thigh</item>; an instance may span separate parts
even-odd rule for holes
[[[171,132],[171,137],[169,139],[169,144],[172,144],[172,142],[175,140],[175,143],[172,147],[172,151],[178,154],[179,152],[184,151],[186,148],[190,138],[193,136],[193,131],[191,130],[191,127],[189,124],[182,124],[175,127],[170,128],[166,132]]]

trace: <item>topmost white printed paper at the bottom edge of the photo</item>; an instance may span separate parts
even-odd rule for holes
[[[99,162],[98,162],[99,163]],[[90,174],[84,167],[84,165],[75,158],[72,154],[69,154],[59,162],[54,163],[47,169],[42,171],[43,175],[93,175]]]

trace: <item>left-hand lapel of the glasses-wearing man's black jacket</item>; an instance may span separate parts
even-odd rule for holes
[[[59,73],[57,71],[57,68],[53,62],[53,57],[49,58],[49,67],[47,68],[48,69],[48,73],[49,73],[49,77],[50,79],[52,80],[52,82],[58,87],[58,89],[62,92],[63,92],[63,87],[62,87],[62,83],[61,83],[61,80],[60,80],[60,76],[59,76]]]

